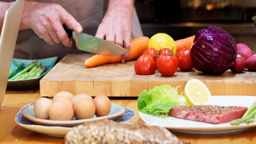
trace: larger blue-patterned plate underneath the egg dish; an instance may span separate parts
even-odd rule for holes
[[[34,132],[39,132],[39,133],[43,133],[43,134],[55,136],[55,137],[64,137],[67,134],[67,132],[72,129],[70,127],[37,125],[34,122],[28,120],[23,116],[23,110],[32,105],[34,105],[34,103],[27,104],[26,106],[22,107],[18,112],[18,114],[16,115],[15,121],[21,127],[29,129]],[[135,111],[128,108],[124,108],[124,109],[125,109],[125,112],[122,115],[112,120],[116,122],[126,123],[135,118],[136,116]]]

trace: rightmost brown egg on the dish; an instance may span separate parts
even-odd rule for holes
[[[94,97],[93,103],[96,108],[95,115],[101,117],[109,114],[111,110],[111,102],[107,96],[99,95],[97,97]]]

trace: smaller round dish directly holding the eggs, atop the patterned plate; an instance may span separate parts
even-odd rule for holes
[[[69,121],[56,121],[56,120],[46,120],[46,119],[41,119],[41,118],[36,118],[34,111],[34,103],[31,104],[29,107],[26,107],[23,111],[23,116],[30,121],[33,121],[34,123],[38,125],[45,125],[45,126],[64,126],[64,127],[73,127],[76,125],[80,125],[84,122],[88,121],[97,121],[97,120],[102,120],[102,119],[113,119],[116,118],[120,115],[122,115],[125,112],[125,109],[117,104],[111,103],[111,110],[108,115],[102,116],[102,117],[97,117],[96,115],[93,116],[93,118],[87,118],[87,119],[81,119],[78,120],[74,116],[72,120]]]

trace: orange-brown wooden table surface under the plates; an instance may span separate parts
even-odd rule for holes
[[[0,143],[4,144],[37,144],[63,143],[63,138],[55,138],[32,132],[20,127],[14,121],[17,112],[24,105],[39,99],[40,93],[34,92],[7,92],[0,107]],[[132,122],[142,121],[138,115],[137,99],[131,97],[112,97],[112,103],[119,104],[136,111],[137,115]],[[255,144],[256,128],[233,134],[221,135],[191,135],[173,132],[179,139],[191,144]]]

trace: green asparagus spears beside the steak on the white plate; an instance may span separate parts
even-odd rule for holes
[[[252,118],[256,114],[256,101],[251,105],[251,107],[244,113],[242,118],[235,119],[230,122],[231,125],[239,125],[240,123],[243,123],[244,121],[247,121],[248,119]]]

